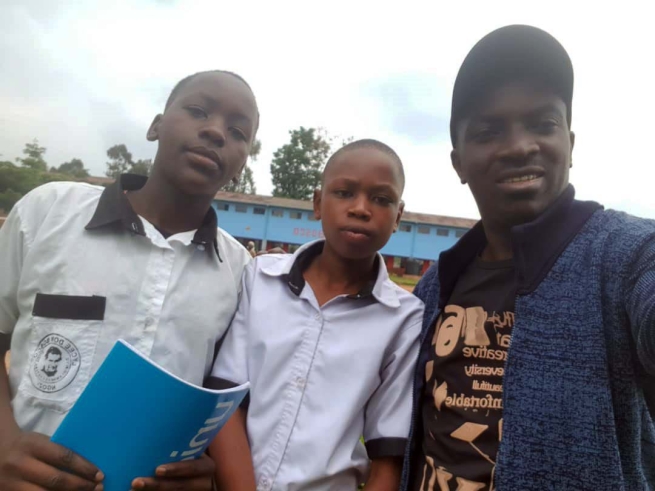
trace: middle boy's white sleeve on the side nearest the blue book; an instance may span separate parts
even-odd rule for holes
[[[239,307],[220,347],[211,376],[205,382],[210,389],[227,389],[248,381],[248,319],[253,276],[254,261],[243,272]]]

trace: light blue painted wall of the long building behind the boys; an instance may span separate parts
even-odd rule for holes
[[[313,212],[214,201],[218,225],[241,239],[266,240],[271,243],[304,244],[323,237],[321,222]],[[441,230],[438,235],[437,230]],[[421,260],[436,260],[441,251],[452,247],[466,230],[453,227],[401,222],[382,254]]]

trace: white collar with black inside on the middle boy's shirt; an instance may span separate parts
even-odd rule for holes
[[[287,282],[289,289],[298,296],[305,287],[303,273],[316,256],[323,251],[324,244],[324,240],[309,242],[300,247],[294,254],[287,255],[284,260],[264,266],[262,272],[269,276],[282,277]],[[384,259],[379,253],[375,260],[375,267],[378,269],[376,278],[365,284],[356,294],[349,295],[349,298],[363,299],[373,297],[388,307],[399,307],[400,301],[398,300],[398,294],[393,285],[389,284],[391,280],[389,279],[387,268],[384,265]]]

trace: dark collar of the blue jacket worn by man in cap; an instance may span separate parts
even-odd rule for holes
[[[578,201],[568,185],[550,207],[535,220],[512,228],[512,251],[518,275],[518,294],[534,291],[557,258],[587,220],[603,207],[594,201]],[[439,256],[439,304],[446,305],[457,279],[487,242],[478,222],[452,248]]]

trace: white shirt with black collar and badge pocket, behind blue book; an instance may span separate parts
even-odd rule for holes
[[[119,338],[189,382],[209,374],[251,258],[213,210],[165,239],[123,193],[145,180],[46,184],[0,229],[0,344],[24,430],[51,435]]]

